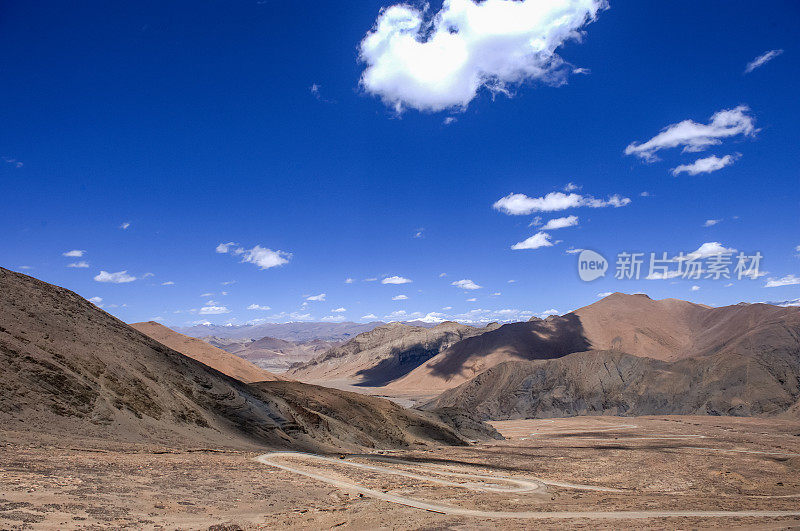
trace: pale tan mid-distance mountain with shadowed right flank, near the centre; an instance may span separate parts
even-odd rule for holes
[[[287,376],[304,381],[347,379],[358,385],[382,386],[459,341],[496,327],[496,323],[475,328],[452,321],[433,328],[389,323],[296,365]]]

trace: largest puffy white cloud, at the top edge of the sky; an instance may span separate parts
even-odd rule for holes
[[[604,0],[445,0],[383,9],[361,41],[361,86],[396,112],[464,109],[482,88],[510,94],[525,81],[566,82],[556,50],[580,40]]]

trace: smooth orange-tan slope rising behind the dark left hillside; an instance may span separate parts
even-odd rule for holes
[[[179,334],[155,321],[132,323],[130,326],[155,339],[162,345],[166,345],[184,356],[195,359],[242,382],[252,383],[282,379],[271,372],[256,367],[249,361],[213,347],[205,341]]]

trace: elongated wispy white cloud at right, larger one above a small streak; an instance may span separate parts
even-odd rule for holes
[[[722,138],[738,135],[754,136],[758,130],[753,125],[753,117],[746,105],[735,109],[724,109],[711,116],[708,124],[699,124],[693,120],[684,120],[661,130],[656,136],[642,144],[632,142],[625,148],[626,155],[653,162],[658,160],[656,152],[683,146],[684,153],[703,151],[709,146],[722,143]]]

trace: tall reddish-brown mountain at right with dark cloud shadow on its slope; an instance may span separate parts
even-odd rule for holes
[[[512,323],[442,351],[389,387],[445,390],[504,361],[614,350],[662,361],[713,353],[796,349],[797,308],[737,304],[712,308],[677,299],[614,293],[566,315]]]

